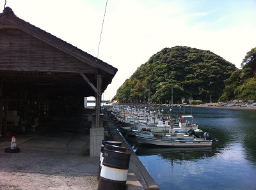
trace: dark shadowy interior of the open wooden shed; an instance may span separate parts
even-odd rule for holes
[[[68,75],[65,77],[70,79]],[[61,77],[57,77],[59,80],[36,78],[35,74],[30,77],[7,77],[5,74],[1,80],[1,134],[33,131],[53,117],[68,115],[83,108],[83,87],[87,90],[89,87],[79,77],[83,82],[67,82],[67,78]]]

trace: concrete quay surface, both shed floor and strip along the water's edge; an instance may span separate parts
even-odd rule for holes
[[[92,110],[54,117],[36,131],[15,134],[19,153],[6,153],[11,138],[0,138],[0,189],[97,189],[99,157],[90,157],[90,122]],[[104,114],[106,138],[122,141],[131,151],[127,189],[159,189]]]

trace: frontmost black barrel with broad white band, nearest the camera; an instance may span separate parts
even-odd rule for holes
[[[98,190],[126,189],[131,153],[104,150]]]

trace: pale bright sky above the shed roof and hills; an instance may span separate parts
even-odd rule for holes
[[[117,68],[104,100],[163,48],[209,50],[241,68],[256,47],[256,0],[6,0],[6,6]]]

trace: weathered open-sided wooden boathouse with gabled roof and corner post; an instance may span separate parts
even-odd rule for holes
[[[116,72],[113,66],[4,8],[0,13],[0,135],[31,118],[36,125],[70,105],[83,106],[84,97],[94,96],[90,156],[99,156],[104,138],[100,99]]]

